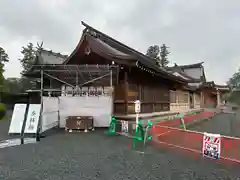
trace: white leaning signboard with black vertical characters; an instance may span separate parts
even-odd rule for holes
[[[30,104],[28,109],[25,133],[36,133],[39,122],[41,104]]]

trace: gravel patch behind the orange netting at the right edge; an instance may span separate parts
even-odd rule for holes
[[[189,127],[190,130],[240,137],[240,112],[218,114],[209,121]]]

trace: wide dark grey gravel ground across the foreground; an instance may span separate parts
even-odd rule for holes
[[[0,122],[1,138],[7,122]],[[144,154],[130,139],[93,133],[63,133],[37,144],[0,149],[1,180],[216,180],[240,177],[239,167],[194,159],[148,146]]]

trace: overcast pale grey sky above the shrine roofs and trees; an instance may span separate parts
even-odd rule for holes
[[[172,63],[204,61],[209,81],[224,83],[240,67],[240,0],[0,0],[5,76],[20,76],[28,42],[69,55],[81,21],[144,53],[165,43]]]

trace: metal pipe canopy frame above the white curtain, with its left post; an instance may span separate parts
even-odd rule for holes
[[[40,75],[40,103],[41,113],[37,135],[42,132],[43,96],[49,91],[44,82],[45,77],[55,80],[54,89],[61,91],[62,96],[101,96],[112,93],[113,83],[118,80],[118,66],[116,65],[34,65],[32,73],[39,78]],[[65,88],[62,88],[65,87]],[[70,90],[69,90],[70,88]],[[71,93],[69,93],[71,91]]]

